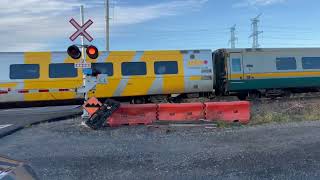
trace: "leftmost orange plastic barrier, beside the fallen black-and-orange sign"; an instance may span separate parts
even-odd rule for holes
[[[117,127],[121,125],[147,125],[157,120],[156,104],[121,104],[107,120],[108,125]]]

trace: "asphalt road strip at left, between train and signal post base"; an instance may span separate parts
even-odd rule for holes
[[[0,138],[34,123],[79,114],[78,106],[54,106],[0,110]]]

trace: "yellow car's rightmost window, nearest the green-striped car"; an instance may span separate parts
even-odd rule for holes
[[[161,74],[178,74],[177,61],[159,61],[154,63],[154,73]]]

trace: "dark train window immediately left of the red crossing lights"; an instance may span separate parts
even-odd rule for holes
[[[73,63],[49,64],[50,78],[73,78],[78,77],[78,70]]]

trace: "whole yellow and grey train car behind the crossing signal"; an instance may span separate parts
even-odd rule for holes
[[[108,74],[90,96],[98,98],[213,92],[211,50],[100,52],[92,67]],[[66,52],[0,53],[0,102],[83,98],[82,70]]]

